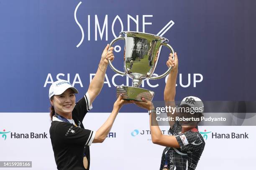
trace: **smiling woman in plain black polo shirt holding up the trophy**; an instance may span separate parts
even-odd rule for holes
[[[84,129],[84,116],[92,109],[92,102],[102,89],[108,60],[114,59],[113,47],[109,52],[108,47],[109,45],[102,53],[99,67],[88,91],[77,103],[74,93],[78,91],[68,81],[58,80],[49,89],[52,120],[50,137],[58,170],[89,170],[89,146],[105,140],[120,108],[128,103],[122,100],[120,95],[114,103],[112,113],[97,131]]]

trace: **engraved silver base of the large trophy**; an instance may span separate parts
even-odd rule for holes
[[[146,100],[152,101],[155,92],[146,90],[139,87],[131,87],[131,86],[117,86],[116,95],[117,97],[122,94],[124,100],[136,100],[142,101],[141,97],[144,97]]]

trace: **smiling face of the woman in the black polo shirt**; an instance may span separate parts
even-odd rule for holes
[[[54,105],[54,110],[59,115],[64,117],[72,116],[72,111],[75,106],[76,97],[74,91],[67,89],[61,95],[54,95],[51,104]]]

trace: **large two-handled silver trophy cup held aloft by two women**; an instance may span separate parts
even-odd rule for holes
[[[174,54],[173,48],[167,44],[169,40],[164,37],[160,37],[153,34],[143,32],[120,32],[120,37],[115,38],[110,42],[110,47],[118,41],[125,40],[124,47],[124,70],[125,72],[117,70],[110,60],[108,60],[112,70],[120,75],[127,75],[133,80],[133,87],[130,86],[117,86],[117,97],[123,94],[123,99],[142,101],[141,97],[145,97],[147,100],[152,101],[154,92],[139,88],[142,80],[160,79],[172,70],[172,67],[159,76],[154,76],[159,55],[161,52],[161,46],[168,47],[172,54]]]

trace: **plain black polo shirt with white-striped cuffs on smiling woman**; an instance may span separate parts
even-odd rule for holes
[[[84,129],[82,121],[92,109],[88,93],[80,99],[72,111],[72,120],[63,122],[53,117],[50,128],[51,145],[58,170],[86,170],[84,156],[90,168],[90,148],[95,131]]]

